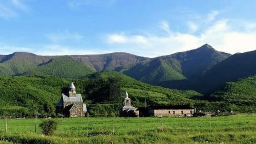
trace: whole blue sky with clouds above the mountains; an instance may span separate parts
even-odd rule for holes
[[[255,0],[0,0],[0,54],[256,49]]]

